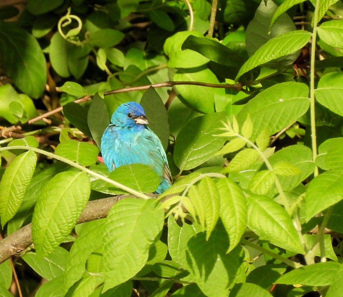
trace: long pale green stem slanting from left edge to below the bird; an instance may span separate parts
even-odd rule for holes
[[[116,181],[114,181],[114,180],[112,180],[112,179],[110,179],[110,178],[108,178],[108,177],[106,177],[104,175],[98,174],[98,173],[96,173],[96,172],[94,172],[94,171],[92,171],[92,170],[90,170],[90,169],[88,169],[88,168],[78,164],[78,163],[75,163],[73,161],[70,161],[70,160],[68,160],[66,158],[63,158],[63,157],[58,156],[58,155],[55,155],[53,153],[41,150],[40,148],[30,147],[30,146],[23,146],[23,145],[6,146],[6,147],[1,147],[0,148],[0,152],[1,151],[6,151],[6,150],[32,150],[32,151],[34,151],[36,153],[39,153],[39,154],[42,154],[42,155],[54,158],[54,159],[56,159],[58,161],[62,161],[62,162],[66,163],[66,164],[68,164],[70,166],[73,166],[75,168],[80,169],[81,171],[85,171],[89,175],[92,175],[92,176],[94,176],[94,177],[96,177],[98,179],[106,181],[106,182],[110,183],[111,185],[114,185],[117,188],[120,188],[120,189],[122,189],[124,191],[127,191],[127,192],[129,192],[129,193],[131,193],[131,194],[133,194],[133,195],[135,195],[135,196],[137,196],[139,198],[142,198],[142,199],[145,199],[145,200],[150,199],[149,196],[147,196],[147,195],[145,195],[145,194],[143,194],[141,192],[135,191],[135,190],[133,190],[133,189],[131,189],[131,188],[125,186],[125,185],[122,185],[121,183],[116,182]]]

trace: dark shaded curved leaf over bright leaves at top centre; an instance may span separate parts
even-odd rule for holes
[[[219,64],[240,67],[243,60],[232,49],[227,48],[216,40],[206,37],[189,35],[181,46],[182,50],[191,49],[202,56]],[[230,57],[228,59],[228,57]]]

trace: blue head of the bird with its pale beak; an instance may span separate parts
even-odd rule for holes
[[[113,113],[111,123],[119,127],[143,127],[149,124],[143,107],[137,102],[121,104]]]

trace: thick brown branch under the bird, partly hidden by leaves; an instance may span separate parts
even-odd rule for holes
[[[147,195],[151,198],[157,197],[156,194]],[[132,198],[135,196],[122,194],[114,197],[89,201],[76,224],[107,217],[109,210],[116,202],[129,197]],[[11,256],[27,249],[32,244],[31,227],[32,223],[29,223],[0,241],[0,264],[11,258]]]

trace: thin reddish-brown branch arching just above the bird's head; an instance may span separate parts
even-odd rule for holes
[[[104,92],[104,96],[118,94],[118,93],[124,93],[124,92],[147,90],[151,86],[154,88],[160,88],[160,87],[173,87],[176,85],[195,85],[195,86],[204,86],[204,87],[212,87],[212,88],[228,88],[228,89],[235,89],[237,91],[241,91],[243,88],[243,86],[240,83],[237,83],[237,84],[210,84],[210,83],[203,83],[203,82],[167,81],[167,82],[158,83],[158,84],[150,84],[150,85],[137,86],[137,87],[128,87],[128,88],[122,88],[122,89],[118,89],[118,90],[107,91],[107,92]],[[81,98],[75,100],[74,102],[75,103],[86,102],[92,98],[93,98],[93,96],[84,96],[84,97],[81,97]],[[42,120],[46,117],[52,116],[52,115],[56,114],[57,112],[62,111],[62,109],[63,109],[63,107],[55,108],[54,110],[48,111],[43,115],[40,115],[40,116],[35,117],[31,120],[28,120],[27,123],[32,124],[32,123],[37,122],[39,120]]]

